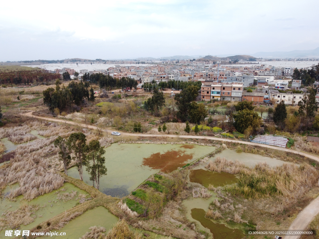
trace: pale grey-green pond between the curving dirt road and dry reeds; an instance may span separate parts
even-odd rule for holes
[[[241,146],[241,147],[244,148],[245,146]],[[221,153],[216,154],[214,157],[211,157],[210,160],[214,160],[218,156],[221,158],[225,157],[227,160],[231,160],[231,161],[238,160],[249,167],[251,166],[254,167],[259,162],[266,162],[271,167],[281,166],[284,163],[289,163],[276,158],[261,156],[258,154],[251,154],[251,153],[244,153],[244,152],[236,153],[236,150],[234,149],[225,149]]]

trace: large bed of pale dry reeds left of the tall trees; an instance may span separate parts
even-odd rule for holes
[[[56,156],[57,149],[51,145],[55,139],[38,139],[16,148],[11,165],[0,169],[0,189],[19,183],[19,187],[7,195],[9,199],[23,195],[30,201],[63,186],[64,178],[55,174],[62,167]],[[51,162],[47,158],[49,153],[55,155]]]

